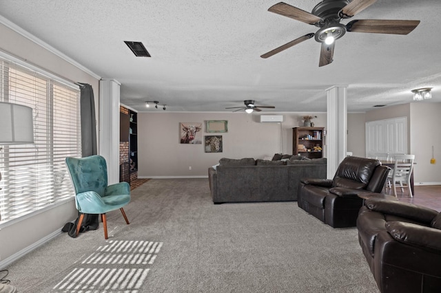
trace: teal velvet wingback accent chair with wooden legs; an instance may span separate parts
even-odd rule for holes
[[[123,206],[130,202],[130,185],[127,182],[107,185],[105,158],[101,155],[85,158],[68,157],[65,162],[75,188],[76,209],[80,213],[76,224],[76,236],[81,228],[84,214],[101,215],[105,239],[108,238],[105,213],[119,209],[127,225],[130,224],[123,210]]]

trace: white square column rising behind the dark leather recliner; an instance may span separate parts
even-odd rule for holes
[[[336,85],[327,92],[327,177],[332,179],[347,152],[346,85]]]

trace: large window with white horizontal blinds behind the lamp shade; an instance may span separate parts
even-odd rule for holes
[[[0,146],[1,224],[74,196],[65,157],[81,157],[79,89],[0,58],[0,100],[33,109],[34,144]]]

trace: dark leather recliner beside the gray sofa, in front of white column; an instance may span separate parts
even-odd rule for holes
[[[360,193],[381,193],[390,168],[380,161],[347,157],[334,179],[300,180],[297,204],[331,227],[356,226],[363,199]]]

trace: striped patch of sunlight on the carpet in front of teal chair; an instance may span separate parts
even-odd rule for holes
[[[107,241],[53,287],[53,292],[130,292],[143,285],[163,242]]]

